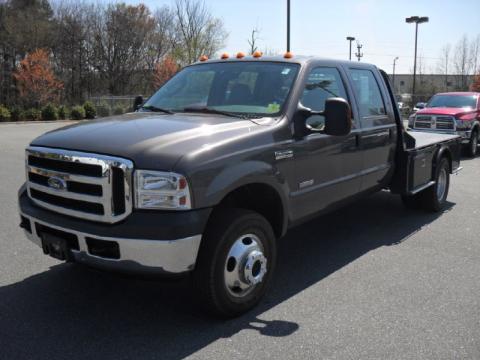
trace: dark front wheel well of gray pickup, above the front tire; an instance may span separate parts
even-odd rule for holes
[[[270,223],[277,238],[283,235],[282,199],[270,185],[260,183],[243,185],[227,194],[216,206],[216,210],[224,208],[241,208],[258,212]]]

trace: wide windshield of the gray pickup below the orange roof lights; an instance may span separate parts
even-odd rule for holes
[[[298,64],[240,61],[189,66],[163,85],[144,107],[276,116],[298,68]]]

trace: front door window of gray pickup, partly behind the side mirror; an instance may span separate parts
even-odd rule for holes
[[[315,111],[323,111],[325,101],[331,97],[347,99],[347,93],[338,70],[328,67],[312,69],[300,99],[302,105]],[[322,130],[325,126],[325,118],[323,116],[312,116],[307,120],[307,125]]]

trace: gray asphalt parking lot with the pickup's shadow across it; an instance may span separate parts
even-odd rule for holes
[[[480,359],[480,157],[441,214],[379,193],[280,240],[266,300],[222,322],[187,281],[46,257],[18,228],[23,149],[60,124],[0,124],[0,359]]]

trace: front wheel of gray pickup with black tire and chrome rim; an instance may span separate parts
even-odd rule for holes
[[[194,289],[208,312],[236,317],[265,295],[275,264],[276,239],[269,222],[250,210],[222,209],[212,215],[202,239]]]

